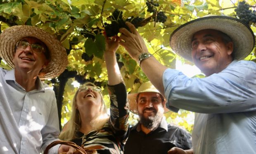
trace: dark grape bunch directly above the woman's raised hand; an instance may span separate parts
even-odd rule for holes
[[[106,31],[107,37],[113,37],[118,34],[120,28],[126,28],[128,27],[125,24],[125,21],[123,20],[123,11],[119,11],[118,9],[115,9],[111,16],[108,17],[108,19],[111,20],[110,23],[104,23],[104,28]]]

